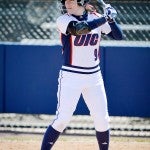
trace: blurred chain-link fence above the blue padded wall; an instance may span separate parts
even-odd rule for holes
[[[103,13],[96,0],[91,0],[91,3],[98,12]],[[129,45],[141,42],[149,44],[149,0],[106,0],[106,3],[110,3],[118,12],[116,21],[123,29],[123,42]],[[0,0],[0,41],[59,44],[56,28],[59,15],[56,0]],[[108,44],[111,39],[103,36],[102,41]]]

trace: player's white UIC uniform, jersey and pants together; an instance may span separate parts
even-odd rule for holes
[[[87,21],[100,16],[97,13],[89,13]],[[52,127],[59,132],[65,129],[82,94],[94,120],[95,129],[106,131],[109,129],[109,116],[99,66],[99,45],[101,33],[108,34],[111,28],[105,23],[86,35],[73,36],[66,34],[70,21],[78,20],[67,13],[57,19],[64,62],[58,79],[58,104]]]

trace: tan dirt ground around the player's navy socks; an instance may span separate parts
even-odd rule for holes
[[[40,150],[43,135],[0,133],[0,150]],[[53,150],[98,150],[95,136],[62,135]],[[149,138],[111,137],[110,150],[150,150]]]

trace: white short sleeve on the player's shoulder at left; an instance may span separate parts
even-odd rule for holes
[[[69,23],[72,21],[72,17],[68,15],[62,15],[57,18],[56,24],[59,31],[63,34],[66,34],[67,27]]]

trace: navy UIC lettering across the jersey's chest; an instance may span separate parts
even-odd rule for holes
[[[75,46],[94,46],[98,42],[98,34],[87,34],[87,35],[79,35],[75,37],[74,45]]]

